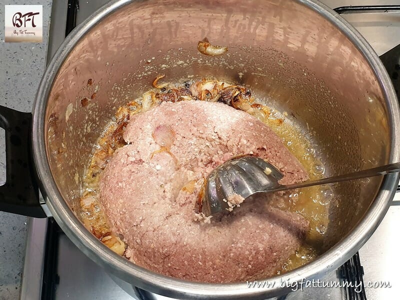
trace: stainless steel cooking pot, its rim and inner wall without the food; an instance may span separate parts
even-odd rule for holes
[[[205,36],[227,46],[228,53],[200,54],[197,41]],[[281,282],[337,268],[378,226],[397,174],[337,184],[325,252],[268,278],[274,282],[269,287],[177,280],[113,253],[76,216],[83,169],[115,109],[148,89],[160,73],[168,81],[194,75],[248,84],[266,103],[292,113],[293,120],[315,132],[313,143],[326,175],[399,161],[399,109],[389,77],[363,37],[321,3],[112,1],[75,28],[51,59],[34,103],[32,145],[51,214],[86,255],[114,276],[175,298],[264,299],[288,292]],[[84,107],[83,98],[88,99]]]

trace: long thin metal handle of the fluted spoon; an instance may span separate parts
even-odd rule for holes
[[[358,179],[358,178],[386,175],[386,174],[395,173],[395,172],[399,172],[399,171],[400,171],[400,162],[395,162],[395,163],[385,164],[385,165],[381,165],[381,166],[377,166],[377,167],[373,167],[370,169],[365,169],[365,170],[361,170],[361,171],[357,171],[357,172],[353,172],[353,173],[282,185],[281,187],[278,187],[276,190],[286,190],[286,189],[292,189],[292,188],[299,188],[299,187],[320,185],[320,184],[326,184],[326,183],[347,181],[347,180],[353,180],[353,179]]]

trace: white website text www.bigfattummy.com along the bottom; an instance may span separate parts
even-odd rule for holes
[[[273,287],[288,287],[292,291],[303,290],[306,287],[316,287],[316,288],[330,288],[330,287],[352,287],[355,292],[361,292],[362,283],[361,282],[352,282],[352,281],[332,281],[332,280],[320,280],[320,279],[312,279],[305,280],[305,278],[300,281],[284,281],[281,280],[280,283],[276,281],[246,281],[248,288],[273,288]],[[368,288],[387,288],[391,287],[389,281],[366,281],[364,282],[364,286]]]

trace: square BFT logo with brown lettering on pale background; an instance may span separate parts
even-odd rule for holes
[[[42,5],[5,5],[5,41],[43,40]]]

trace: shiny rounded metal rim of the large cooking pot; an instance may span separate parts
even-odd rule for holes
[[[383,219],[389,202],[392,200],[399,174],[386,175],[380,189],[372,202],[368,212],[359,224],[341,242],[320,255],[313,262],[297,269],[286,272],[280,276],[265,279],[272,286],[249,288],[246,282],[241,283],[198,283],[164,276],[147,270],[127,259],[117,255],[92,235],[78,220],[67,203],[62,198],[55,181],[53,180],[46,156],[44,115],[49,92],[59,68],[75,44],[85,33],[94,27],[101,19],[135,0],[113,0],[100,7],[85,21],[77,25],[61,43],[60,47],[48,63],[40,81],[33,105],[32,146],[33,158],[38,173],[40,189],[46,194],[46,204],[65,234],[88,257],[107,268],[117,277],[133,285],[169,297],[200,299],[264,299],[265,296],[276,296],[290,291],[286,284],[281,287],[281,282],[300,281],[303,278],[316,278],[320,275],[339,267],[348,257],[353,255],[362,244],[372,235],[380,221]],[[391,149],[389,162],[400,160],[399,124],[400,114],[394,88],[380,59],[367,43],[364,37],[353,28],[346,20],[319,1],[295,0],[335,25],[361,52],[373,70],[382,89],[388,109],[389,125],[391,128]],[[258,280],[261,282],[264,280]]]

